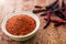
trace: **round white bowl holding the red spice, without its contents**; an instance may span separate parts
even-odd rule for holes
[[[18,14],[26,14],[31,18],[33,18],[36,22],[36,28],[34,29],[34,31],[32,31],[31,33],[26,34],[26,35],[12,35],[10,34],[7,29],[6,29],[6,23],[7,21],[12,18],[13,15],[18,15]],[[13,22],[13,21],[12,21]],[[2,24],[1,24],[1,28],[2,28],[2,32],[4,34],[7,34],[10,38],[12,40],[15,40],[15,41],[26,41],[29,38],[31,38],[32,36],[35,35],[35,33],[37,32],[38,28],[40,28],[40,19],[32,12],[29,12],[29,11],[18,11],[18,12],[14,12],[14,13],[10,13],[8,14],[3,21],[2,21]]]

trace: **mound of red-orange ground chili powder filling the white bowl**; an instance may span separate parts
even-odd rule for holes
[[[13,35],[25,35],[32,32],[36,22],[29,15],[14,15],[7,21],[7,31]]]

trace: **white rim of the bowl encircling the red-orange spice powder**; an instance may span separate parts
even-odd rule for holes
[[[26,35],[13,35],[13,34],[10,34],[10,33],[7,31],[7,29],[6,29],[4,25],[6,25],[7,21],[8,21],[10,18],[12,18],[13,15],[18,15],[18,14],[26,14],[26,15],[33,18],[33,19],[35,20],[35,22],[36,22],[35,29],[34,29],[32,32],[30,32],[29,34],[26,34]],[[31,15],[30,15],[30,14],[31,14]],[[10,16],[10,18],[9,18],[9,16]],[[32,35],[32,34],[34,34],[34,33],[38,30],[38,28],[40,28],[40,19],[38,19],[38,16],[36,16],[34,13],[32,13],[32,12],[30,12],[30,11],[16,11],[16,12],[13,12],[13,13],[8,14],[8,15],[3,19],[2,24],[1,24],[1,28],[2,28],[2,32],[3,32],[4,34],[7,34],[8,36],[11,36],[11,37],[26,37],[26,36],[30,36],[30,35]]]

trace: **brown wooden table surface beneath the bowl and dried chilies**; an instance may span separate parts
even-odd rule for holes
[[[0,26],[3,18],[13,11],[32,11],[36,4],[45,7],[52,2],[53,0],[6,0],[0,4]],[[44,16],[36,15],[41,20],[41,26],[33,38],[25,42],[12,41],[0,28],[0,44],[66,44],[66,25],[55,28],[54,23],[51,23],[47,29],[43,30],[46,21]]]

